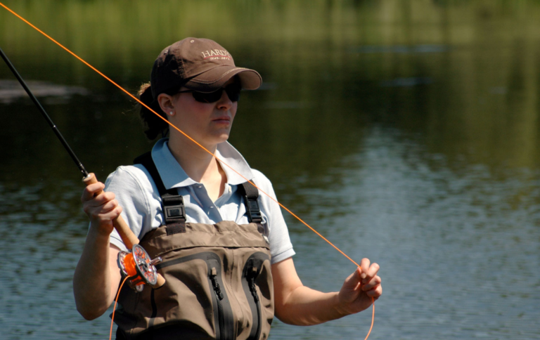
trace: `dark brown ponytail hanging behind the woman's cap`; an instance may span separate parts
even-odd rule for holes
[[[152,90],[150,89],[150,83],[142,84],[141,89],[137,93],[139,95],[139,100],[145,105],[148,105],[152,110],[158,112],[161,117],[167,119],[165,112],[161,110],[158,100],[154,100],[152,96]],[[163,119],[156,116],[154,112],[148,110],[143,105],[137,105],[139,107],[139,117],[141,117],[141,122],[144,126],[144,134],[146,138],[154,140],[158,135],[166,136],[169,132],[169,124],[167,124]]]

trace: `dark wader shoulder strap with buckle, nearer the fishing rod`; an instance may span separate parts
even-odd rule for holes
[[[137,157],[134,164],[142,164],[152,179],[161,196],[165,225],[167,225],[167,235],[186,232],[186,209],[184,208],[184,198],[178,195],[176,189],[165,189],[165,185],[155,167],[151,152]]]

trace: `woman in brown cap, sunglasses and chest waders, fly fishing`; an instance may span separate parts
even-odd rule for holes
[[[266,339],[274,313],[289,324],[316,325],[365,310],[382,294],[379,266],[368,259],[340,292],[302,285],[278,204],[262,193],[257,198],[257,190],[250,193],[243,184],[252,180],[275,197],[270,181],[226,142],[240,88],[257,89],[261,82],[257,72],[236,67],[230,53],[208,39],[186,38],[160,53],[150,86],[143,85],[139,96],[200,145],[169,129],[169,138],[159,140],[143,164],[120,166],[107,185],[85,188],[90,227],[73,280],[84,318],[105,313],[120,285],[117,255],[126,247],[111,222],[120,214],[150,256],[164,258],[158,268],[167,282],[139,294],[122,289],[118,339]],[[167,133],[167,124],[144,107],[141,117],[148,138]],[[157,171],[149,170],[153,166]],[[170,197],[180,211],[174,221],[163,214]]]

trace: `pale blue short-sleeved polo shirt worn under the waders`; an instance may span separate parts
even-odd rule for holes
[[[238,224],[247,224],[248,216],[245,211],[243,197],[237,192],[238,185],[245,179],[231,170],[229,166],[253,181],[262,191],[276,199],[274,188],[266,176],[251,169],[248,162],[228,142],[217,146],[216,156],[226,166],[221,168],[227,176],[227,183],[223,195],[212,202],[205,185],[189,178],[173,157],[167,146],[168,138],[155,143],[152,149],[152,159],[167,190],[176,188],[178,195],[184,197],[186,207],[186,222],[215,224],[219,221],[235,221]],[[105,181],[105,191],[112,191],[122,207],[122,217],[138,235],[139,240],[148,231],[159,228],[163,221],[161,197],[154,181],[148,171],[141,164],[119,166]],[[279,205],[264,193],[259,191],[259,207],[262,215],[262,225],[270,242],[272,263],[288,259],[295,254],[287,225],[283,220]],[[110,243],[122,250],[126,250],[120,235],[113,230]]]

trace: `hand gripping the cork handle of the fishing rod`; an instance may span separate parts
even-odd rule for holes
[[[115,200],[113,192],[105,192],[101,182],[90,184],[82,192],[82,209],[90,218],[91,228],[98,228],[99,233],[110,235],[113,232],[113,220],[120,216],[122,207]]]

